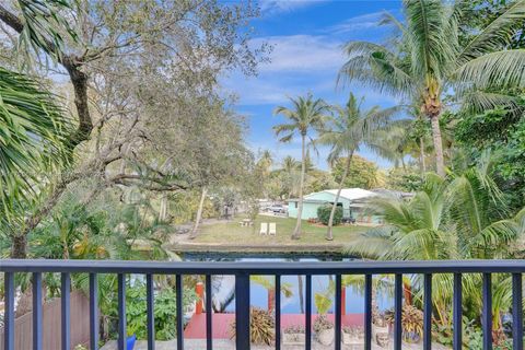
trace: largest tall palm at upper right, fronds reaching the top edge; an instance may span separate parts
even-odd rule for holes
[[[421,113],[431,121],[436,171],[445,176],[440,116],[443,94],[451,90],[465,108],[480,110],[495,106],[517,108],[512,96],[494,93],[523,86],[525,50],[505,49],[512,34],[525,19],[525,0],[511,2],[506,10],[472,35],[460,47],[458,37],[464,15],[463,1],[404,0],[405,20],[387,14],[400,34],[389,45],[350,42],[340,78],[360,81],[381,91],[418,101]]]

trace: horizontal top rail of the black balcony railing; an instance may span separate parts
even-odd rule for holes
[[[525,272],[525,260],[424,261],[135,261],[3,259],[3,272],[93,272],[156,275],[366,275]]]

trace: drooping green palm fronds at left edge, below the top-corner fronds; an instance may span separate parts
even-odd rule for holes
[[[26,237],[14,229],[23,224],[20,213],[36,199],[42,176],[69,158],[65,115],[56,96],[36,81],[0,68],[0,217],[13,258],[26,255]]]

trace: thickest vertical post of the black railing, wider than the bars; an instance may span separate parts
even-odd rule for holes
[[[249,350],[249,275],[235,275],[235,346]]]

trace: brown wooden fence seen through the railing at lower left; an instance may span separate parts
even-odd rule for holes
[[[60,339],[60,299],[43,305],[42,332],[43,350],[61,348]],[[27,313],[14,322],[14,349],[32,350],[33,313]],[[71,349],[90,342],[90,300],[82,292],[71,292]],[[0,350],[3,350],[3,329],[0,328]]]

